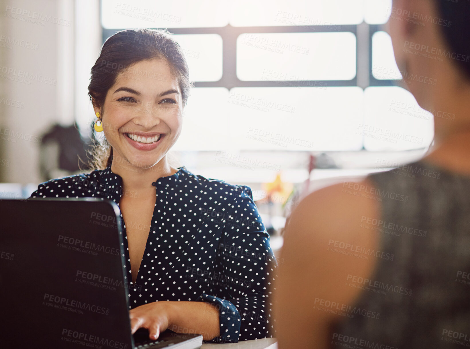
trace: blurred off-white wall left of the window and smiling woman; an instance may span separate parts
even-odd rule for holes
[[[76,11],[75,1],[86,4],[88,12]],[[54,123],[72,124],[76,110],[84,109],[86,91],[85,100],[76,98],[77,43],[84,41],[80,27],[94,28],[86,33],[90,51],[84,56],[96,59],[101,44],[98,3],[0,0],[0,181],[39,183],[41,135]],[[78,76],[82,89],[90,69]]]

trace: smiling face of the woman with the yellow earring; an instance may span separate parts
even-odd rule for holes
[[[148,168],[166,155],[180,135],[182,98],[165,60],[136,62],[132,69],[118,75],[103,104],[94,103],[94,111],[102,116],[110,144],[106,163],[112,163],[116,151],[133,166]],[[157,82],[154,76],[162,80]],[[93,100],[93,90],[90,95]]]

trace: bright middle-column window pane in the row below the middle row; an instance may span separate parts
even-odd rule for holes
[[[252,87],[229,92],[231,143],[256,150],[359,150],[359,87]]]

